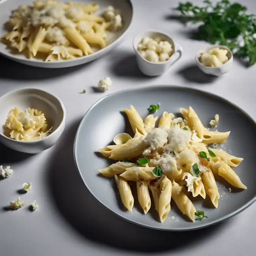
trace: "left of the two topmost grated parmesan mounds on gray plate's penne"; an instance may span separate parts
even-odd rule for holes
[[[167,143],[167,136],[168,134],[165,130],[155,128],[147,134],[146,138],[144,138],[144,144],[149,147],[148,150],[156,150]]]

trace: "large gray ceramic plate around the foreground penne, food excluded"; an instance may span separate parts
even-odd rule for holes
[[[116,192],[114,179],[104,178],[97,172],[98,169],[111,164],[107,159],[99,156],[98,148],[112,143],[116,134],[130,132],[130,126],[121,112],[122,109],[129,108],[132,104],[142,118],[145,118],[148,114],[148,106],[158,102],[161,103],[158,115],[162,115],[164,111],[178,113],[180,107],[192,106],[206,127],[214,114],[219,114],[218,130],[231,130],[230,137],[222,148],[235,156],[244,158],[244,161],[234,170],[248,189],[239,191],[229,184],[217,182],[220,192],[217,209],[212,208],[208,198],[205,201],[200,198],[193,200],[196,209],[204,210],[208,216],[202,221],[190,222],[179,212],[175,204],[171,203],[172,209],[161,224],[158,222],[153,204],[148,214],[142,214],[136,191],[133,192],[135,200],[133,211],[128,212],[122,206],[120,196]],[[78,171],[90,192],[118,216],[148,228],[172,231],[194,230],[226,220],[246,209],[256,200],[255,141],[255,122],[231,102],[190,88],[154,86],[123,90],[96,102],[88,110],[78,128],[74,143],[74,158]],[[232,189],[231,193],[228,188]]]

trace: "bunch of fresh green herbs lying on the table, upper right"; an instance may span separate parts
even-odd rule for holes
[[[204,7],[199,7],[186,2],[176,8],[186,22],[203,23],[198,28],[196,39],[226,45],[236,56],[248,57],[250,65],[255,64],[256,16],[246,14],[246,6],[231,4],[228,0],[219,1],[216,5],[206,0],[204,4]]]

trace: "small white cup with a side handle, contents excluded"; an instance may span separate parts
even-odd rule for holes
[[[140,41],[145,37],[160,37],[161,40],[168,41],[172,45],[172,48],[174,50],[174,53],[172,54],[172,56],[170,56],[170,59],[165,62],[150,62],[144,59],[138,52],[137,48]],[[170,66],[174,64],[174,62],[180,59],[183,51],[182,47],[179,44],[175,43],[168,34],[153,29],[148,29],[135,36],[133,39],[133,48],[136,52],[138,67],[140,71],[146,76],[160,76],[164,74],[164,72],[166,72],[168,68],[170,68]]]

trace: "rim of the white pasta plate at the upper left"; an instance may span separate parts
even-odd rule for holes
[[[7,1],[8,0],[0,1],[0,5]],[[126,34],[128,33],[128,31],[132,25],[132,22],[134,20],[134,6],[132,4],[132,0],[123,0],[123,1],[127,2],[130,5],[131,10],[132,10],[132,16],[131,16],[130,23],[128,24],[126,30],[124,30],[124,32],[116,40],[114,40],[111,44],[108,44],[106,47],[98,50],[97,52],[94,52],[94,53],[86,55],[86,56],[81,56],[81,57],[73,59],[73,60],[61,60],[61,61],[56,61],[56,62],[45,62],[42,60],[34,60],[34,59],[30,60],[30,59],[17,58],[15,54],[8,55],[2,51],[0,51],[0,56],[3,56],[5,58],[8,58],[9,60],[13,60],[15,62],[24,64],[24,65],[36,66],[36,67],[41,67],[41,68],[65,68],[65,67],[78,66],[81,64],[85,64],[85,63],[94,61],[97,58],[104,56],[104,54],[108,54],[108,52],[112,50],[112,48],[114,47],[115,44],[119,44],[120,42],[122,42],[122,40],[124,39],[124,37],[126,36]],[[3,44],[3,43],[0,41],[0,44]],[[92,58],[92,60],[88,60],[86,62],[82,61],[82,60],[86,60],[86,58],[87,59]],[[74,62],[74,63],[79,62],[79,63],[72,64],[72,62]],[[43,66],[41,66],[41,65],[43,65]],[[46,66],[44,66],[44,65],[46,65]],[[57,65],[57,67],[55,67],[55,65]],[[64,65],[64,66],[62,67],[62,65]]]

